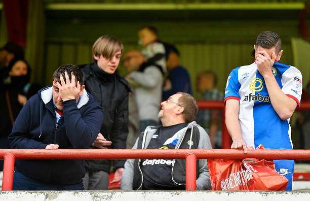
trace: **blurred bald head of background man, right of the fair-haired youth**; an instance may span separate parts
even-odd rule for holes
[[[136,71],[140,65],[146,60],[143,54],[138,50],[128,51],[124,56],[124,66],[127,73]]]

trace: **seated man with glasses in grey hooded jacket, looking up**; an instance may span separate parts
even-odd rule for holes
[[[204,128],[193,121],[198,106],[188,93],[178,92],[161,103],[163,126],[147,126],[133,149],[211,149]],[[207,160],[199,160],[197,189],[211,188]],[[129,159],[121,183],[122,190],[184,190],[185,160]]]

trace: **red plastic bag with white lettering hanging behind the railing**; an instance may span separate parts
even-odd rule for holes
[[[288,183],[273,161],[208,160],[208,167],[211,190],[285,190]]]

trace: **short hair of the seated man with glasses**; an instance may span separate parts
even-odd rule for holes
[[[198,113],[198,106],[196,103],[196,99],[188,93],[177,92],[177,94],[182,95],[178,99],[178,104],[184,108],[183,117],[185,123],[192,122],[193,120],[195,120],[196,115]]]

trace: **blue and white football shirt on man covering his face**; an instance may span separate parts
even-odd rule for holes
[[[300,106],[301,73],[294,66],[275,62],[273,75],[284,94]],[[267,149],[292,149],[291,128],[288,120],[281,120],[274,110],[263,77],[257,65],[241,66],[228,76],[225,101],[240,101],[239,122],[242,137],[248,146],[262,144]]]

